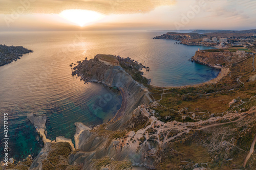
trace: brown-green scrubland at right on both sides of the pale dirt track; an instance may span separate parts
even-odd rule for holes
[[[163,122],[173,120],[195,122],[199,119],[209,119],[212,113],[213,116],[222,117],[227,113],[237,114],[248,111],[252,106],[256,106],[256,97],[252,98],[256,95],[256,81],[249,80],[251,76],[256,75],[252,60],[253,58],[250,57],[232,64],[230,76],[224,77],[216,84],[172,89],[150,87],[149,90],[155,99],[160,100],[162,95],[162,99],[158,101],[159,105],[151,109],[156,111],[155,115],[158,115],[159,120]],[[255,62],[254,67],[256,67]],[[244,85],[237,81],[238,78]],[[233,99],[237,102],[229,107],[229,102]],[[233,106],[237,107],[233,108]],[[191,118],[192,113],[195,113],[195,118]],[[218,123],[227,124],[201,131],[190,130],[185,136],[181,135],[171,140],[168,143],[171,149],[162,150],[157,155],[161,157],[161,162],[156,164],[157,169],[193,169],[195,162],[199,167],[210,169],[231,169],[231,167],[244,169],[241,166],[256,134],[254,114],[236,123],[228,122],[237,120],[239,116],[221,119]],[[182,119],[182,115],[186,118]],[[155,131],[148,129],[147,133],[154,135]],[[166,135],[160,133],[158,137],[161,141],[164,136],[170,138],[179,133],[178,129],[170,130]],[[155,137],[148,139],[152,144],[154,140]],[[255,168],[253,161],[255,156],[252,156],[247,163],[247,169]],[[207,163],[207,166],[204,163]]]

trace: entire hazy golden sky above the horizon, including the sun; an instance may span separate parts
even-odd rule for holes
[[[256,1],[0,0],[0,31],[256,29]]]

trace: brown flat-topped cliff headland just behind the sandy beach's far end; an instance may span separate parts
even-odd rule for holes
[[[197,51],[193,59],[201,64],[213,66],[214,64],[228,65],[246,58],[244,54],[232,52],[207,52]]]

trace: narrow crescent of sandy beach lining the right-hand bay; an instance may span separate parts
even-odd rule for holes
[[[154,85],[151,85],[152,87],[154,88],[166,88],[166,89],[171,89],[171,88],[187,88],[187,87],[199,87],[199,86],[203,86],[203,85],[206,85],[206,84],[215,84],[215,83],[218,83],[223,77],[227,76],[228,75],[228,72],[229,72],[229,68],[224,68],[224,67],[219,67],[219,66],[211,66],[211,67],[214,67],[214,68],[219,68],[221,69],[221,71],[219,72],[218,76],[214,79],[211,79],[207,82],[204,82],[204,83],[199,83],[199,84],[194,84],[194,85],[186,85],[186,86],[166,86],[166,87],[160,87],[160,86],[154,86]]]

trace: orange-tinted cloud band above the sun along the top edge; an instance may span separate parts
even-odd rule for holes
[[[26,13],[60,13],[67,9],[84,9],[103,14],[146,13],[158,6],[170,6],[175,0],[0,0],[0,11],[10,14],[23,4],[30,4]]]

